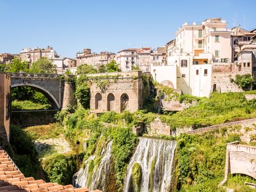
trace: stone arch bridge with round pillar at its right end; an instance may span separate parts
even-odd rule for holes
[[[54,109],[65,109],[68,104],[74,102],[72,83],[65,81],[61,75],[23,73],[9,73],[9,75],[11,76],[11,88],[29,86],[43,93]],[[65,75],[65,77],[72,76]]]

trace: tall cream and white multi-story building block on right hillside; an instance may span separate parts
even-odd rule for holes
[[[232,65],[231,34],[227,22],[220,18],[184,23],[175,33],[175,40],[166,44],[167,65],[152,66],[153,77],[198,97],[208,97],[212,90],[228,91],[224,88],[227,78],[223,83],[216,77],[239,73],[239,68]]]

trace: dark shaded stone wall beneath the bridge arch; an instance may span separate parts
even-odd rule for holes
[[[55,122],[54,115],[58,110],[12,111],[11,124],[28,127],[47,125]]]

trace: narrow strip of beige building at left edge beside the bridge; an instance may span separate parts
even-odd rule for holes
[[[0,137],[10,140],[11,92],[10,76],[0,73]]]

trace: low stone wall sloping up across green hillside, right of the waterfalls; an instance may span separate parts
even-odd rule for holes
[[[183,129],[180,129],[180,133],[187,133],[187,134],[203,134],[204,132],[209,132],[209,131],[214,131],[216,129],[221,129],[223,127],[227,127],[227,126],[236,126],[236,125],[241,125],[242,127],[250,127],[252,124],[256,124],[256,118],[252,118],[252,119],[248,119],[248,120],[241,120],[241,121],[237,121],[237,122],[230,122],[230,123],[226,123],[226,124],[219,124],[219,125],[212,125],[210,127],[203,127],[200,129],[195,129],[192,131],[183,131]]]

